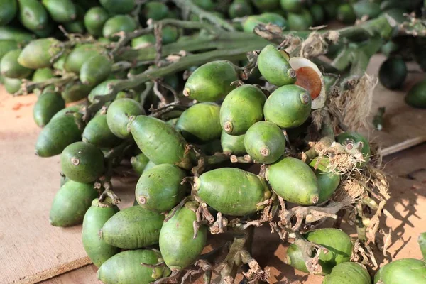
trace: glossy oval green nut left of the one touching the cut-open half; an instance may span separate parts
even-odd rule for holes
[[[239,80],[238,73],[231,62],[209,62],[192,72],[183,94],[199,102],[216,102],[235,89],[231,83],[236,80]]]

